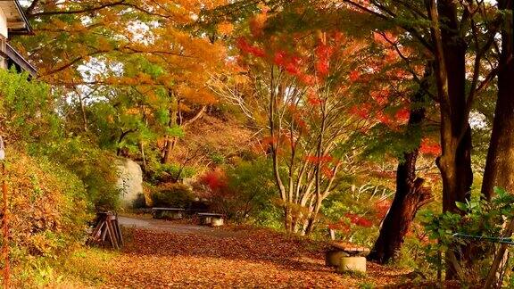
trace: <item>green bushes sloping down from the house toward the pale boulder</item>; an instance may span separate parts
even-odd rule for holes
[[[86,186],[87,202],[98,210],[119,206],[113,155],[101,150],[88,137],[65,135],[57,105],[62,92],[27,74],[0,70],[0,118],[4,135],[19,151],[73,171]]]

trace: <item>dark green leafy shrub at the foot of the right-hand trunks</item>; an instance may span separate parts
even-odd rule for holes
[[[469,283],[480,282],[491,267],[494,237],[502,236],[502,225],[514,218],[514,195],[495,188],[496,196],[492,201],[472,200],[457,202],[457,207],[464,212],[435,214],[427,211],[423,223],[429,237],[426,257],[432,269],[445,267],[446,258],[441,256],[453,252],[459,256],[463,249],[473,252],[472,260],[461,264],[463,274]],[[452,251],[450,251],[452,250]],[[508,266],[507,266],[508,267]],[[508,280],[505,277],[504,280]]]

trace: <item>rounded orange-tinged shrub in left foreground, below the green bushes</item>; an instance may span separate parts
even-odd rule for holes
[[[45,158],[8,152],[12,260],[55,256],[85,235],[90,203],[70,170]]]

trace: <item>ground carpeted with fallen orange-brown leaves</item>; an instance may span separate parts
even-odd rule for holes
[[[338,274],[324,265],[324,244],[266,229],[198,230],[128,230],[123,251],[104,264],[105,287],[349,288],[392,284],[405,274],[374,264],[366,277]]]

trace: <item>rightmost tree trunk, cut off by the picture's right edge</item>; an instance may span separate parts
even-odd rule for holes
[[[498,99],[494,111],[493,133],[485,162],[482,194],[490,200],[494,186],[514,194],[514,33],[512,32],[513,1],[499,0],[501,10],[510,10],[502,29],[502,55],[498,71]]]

